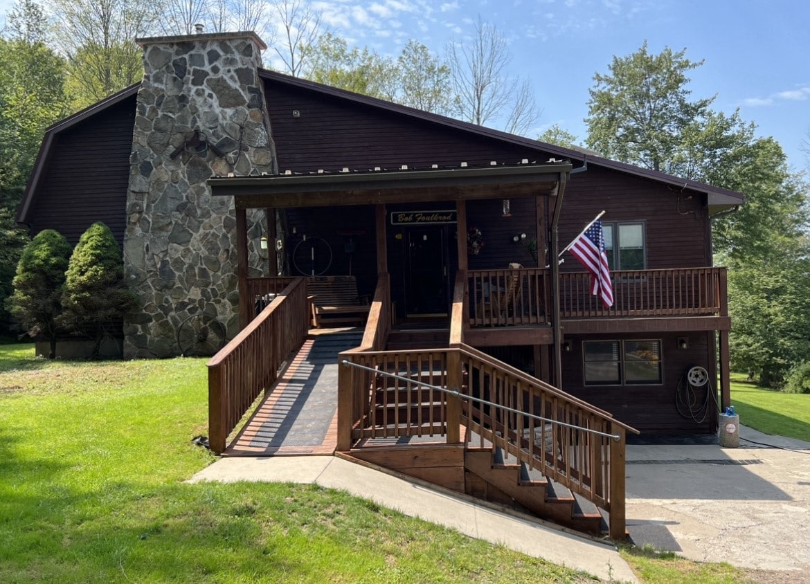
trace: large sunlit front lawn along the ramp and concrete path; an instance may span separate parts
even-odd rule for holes
[[[204,363],[0,346],[0,582],[592,582],[343,492],[185,484],[214,458]],[[623,553],[643,582],[744,577]]]

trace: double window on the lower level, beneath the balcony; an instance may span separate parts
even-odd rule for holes
[[[586,386],[659,385],[661,341],[586,341],[583,343]]]

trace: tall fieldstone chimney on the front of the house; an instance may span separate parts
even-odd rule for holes
[[[236,215],[211,176],[275,171],[254,32],[137,40],[138,93],[124,265],[143,310],[124,324],[124,356],[180,353],[177,329],[202,313],[239,330]],[[258,220],[254,221],[258,225]],[[251,254],[258,264],[258,255]]]

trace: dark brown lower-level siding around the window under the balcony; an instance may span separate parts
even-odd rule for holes
[[[689,348],[680,349],[677,346],[679,336],[688,339]],[[692,410],[697,411],[706,400],[706,388],[698,388],[694,394],[689,391],[688,384],[684,382],[684,375],[690,368],[699,365],[708,371],[713,371],[707,362],[710,347],[705,333],[685,335],[661,335],[645,333],[641,335],[591,335],[587,338],[581,336],[566,336],[565,340],[571,343],[571,352],[562,356],[562,389],[569,394],[586,400],[588,403],[610,411],[616,419],[630,424],[642,433],[708,433],[715,428],[713,418],[717,416],[717,406],[710,404],[706,420],[698,423],[689,413],[689,400],[695,402]],[[585,340],[622,340],[622,339],[651,339],[661,341],[663,355],[663,384],[649,386],[585,386],[582,342]],[[711,387],[716,390],[716,384]],[[678,392],[682,399],[680,410],[676,405]],[[684,407],[683,404],[687,404]],[[702,413],[702,412],[701,412]],[[697,416],[700,418],[701,416]]]

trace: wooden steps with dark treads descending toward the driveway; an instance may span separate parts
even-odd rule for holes
[[[468,448],[464,471],[468,495],[591,535],[607,531],[602,514],[590,501],[510,458],[501,448]]]

